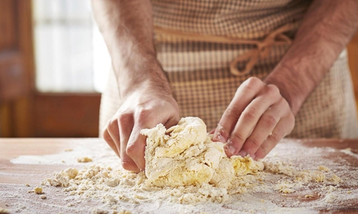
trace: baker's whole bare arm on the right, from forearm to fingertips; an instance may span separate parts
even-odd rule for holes
[[[294,115],[358,27],[357,0],[315,0],[290,49],[262,82],[246,80],[222,115],[213,139],[227,154],[264,158],[293,130]]]

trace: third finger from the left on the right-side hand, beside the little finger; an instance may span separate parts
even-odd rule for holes
[[[279,123],[281,117],[283,116],[282,111],[282,102],[273,104],[273,106],[268,107],[266,112],[260,117],[257,125],[255,126],[253,132],[244,142],[240,152],[240,156],[246,156],[249,154],[252,158],[255,158],[255,152],[258,148],[264,143],[267,136],[271,135],[274,128]]]

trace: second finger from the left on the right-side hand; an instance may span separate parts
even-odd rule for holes
[[[238,154],[244,145],[246,139],[253,132],[254,128],[257,126],[258,121],[264,114],[264,112],[278,99],[280,99],[280,91],[276,86],[268,85],[261,91],[255,99],[245,108],[242,112],[238,123],[236,124],[233,132],[231,132],[229,137],[229,144],[227,144],[227,155],[232,156]],[[251,142],[258,143],[260,142]]]

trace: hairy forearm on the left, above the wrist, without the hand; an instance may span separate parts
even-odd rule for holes
[[[121,95],[126,96],[145,84],[170,91],[156,60],[150,1],[92,0],[92,7],[112,58]]]

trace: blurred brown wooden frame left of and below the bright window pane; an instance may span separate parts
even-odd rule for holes
[[[8,0],[17,15],[17,48],[23,53],[25,88],[0,105],[1,137],[98,136],[100,93],[40,93],[35,85],[31,0]]]

